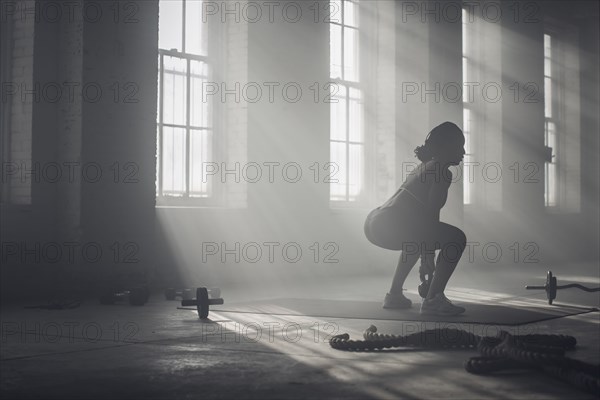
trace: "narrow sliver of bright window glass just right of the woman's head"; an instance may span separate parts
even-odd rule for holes
[[[462,77],[463,85],[466,82],[472,82],[473,77],[471,74],[472,60],[469,59],[470,47],[472,46],[471,34],[470,34],[470,20],[469,13],[466,9],[462,10]],[[471,168],[465,167],[473,162],[472,153],[472,117],[474,114],[473,105],[469,99],[469,91],[463,88],[463,133],[465,135],[465,157],[463,160],[463,203],[471,204],[473,198],[471,193],[473,192],[473,177],[471,176]]]

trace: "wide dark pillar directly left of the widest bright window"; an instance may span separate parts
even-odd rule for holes
[[[101,261],[90,255],[87,264],[99,273],[144,269],[153,261],[158,1],[85,5],[99,7],[99,17],[88,18],[83,30],[82,80],[89,90],[82,162],[89,168],[81,223],[84,242],[103,252]]]

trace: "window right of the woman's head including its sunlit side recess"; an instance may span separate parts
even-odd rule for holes
[[[503,154],[503,101],[485,85],[500,93],[502,72],[501,24],[482,17],[472,4],[462,11],[463,132],[465,156],[462,165],[465,210],[501,211],[503,185],[489,175],[506,158]],[[486,95],[487,94],[487,95]],[[495,98],[494,98],[495,97]],[[490,167],[491,169],[487,169]],[[486,172],[487,171],[487,172]],[[487,179],[487,177],[490,179]]]

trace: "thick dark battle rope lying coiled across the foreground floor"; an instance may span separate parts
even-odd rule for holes
[[[460,329],[428,329],[410,335],[383,335],[371,325],[364,340],[350,340],[347,333],[333,336],[329,345],[346,351],[377,351],[392,347],[428,349],[477,349],[480,357],[464,363],[472,374],[489,374],[505,369],[539,369],[580,389],[600,394],[600,365],[565,357],[577,340],[567,335],[511,335],[501,331],[496,337],[478,336]]]

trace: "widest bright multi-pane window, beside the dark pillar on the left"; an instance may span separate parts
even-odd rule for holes
[[[212,105],[202,98],[210,69],[202,1],[159,5],[157,200],[209,198],[203,167],[213,160],[214,137]]]

